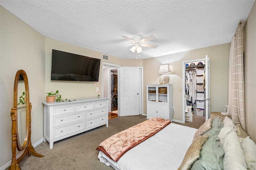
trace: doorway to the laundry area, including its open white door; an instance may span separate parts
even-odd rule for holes
[[[125,77],[124,75],[120,77],[121,69],[123,70],[122,74],[132,71],[133,73],[132,75],[134,75],[135,68],[137,69],[137,75],[138,75],[138,79],[136,79],[137,81],[134,81],[134,77],[125,78],[125,81],[124,79],[122,79]],[[120,82],[121,79],[123,80],[122,82]],[[112,82],[113,82],[113,85],[112,85]],[[131,100],[133,96],[130,97],[130,100],[126,100],[128,98],[124,97],[125,91],[120,91],[120,88],[122,85],[123,85],[122,87],[126,87],[126,85],[128,85],[127,82],[132,83],[132,87],[133,87],[132,89],[134,89],[134,85],[136,84],[138,85],[138,88],[136,91],[136,96],[138,96],[138,100],[136,101]],[[115,88],[114,86],[117,86],[117,88]],[[102,63],[102,97],[106,97],[110,99],[109,100],[110,102],[108,105],[108,113],[114,112],[118,116],[131,116],[135,111],[134,106],[137,106],[137,105],[134,105],[134,102],[135,102],[136,104],[138,103],[138,107],[136,107],[138,111],[138,115],[142,115],[143,113],[142,87],[143,87],[143,67],[120,67],[119,65]],[[129,93],[129,95],[132,95],[132,93]],[[111,111],[111,108],[113,109],[113,111]],[[117,110],[114,110],[114,109],[117,109]],[[125,114],[126,111],[128,111],[129,114]]]

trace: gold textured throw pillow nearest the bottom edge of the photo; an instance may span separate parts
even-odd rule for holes
[[[178,170],[189,170],[191,168],[194,162],[196,162],[196,160],[200,157],[202,145],[206,142],[209,136],[209,134],[199,136],[194,142],[192,142]]]

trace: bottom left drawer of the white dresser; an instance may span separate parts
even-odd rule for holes
[[[80,130],[84,130],[84,121],[71,125],[53,128],[53,138],[59,138]]]

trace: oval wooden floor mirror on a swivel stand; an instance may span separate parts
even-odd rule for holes
[[[31,108],[29,101],[28,77],[24,70],[18,70],[14,80],[12,118],[12,163],[9,170],[20,170],[19,163],[26,154],[38,154],[31,144]],[[16,149],[23,151],[22,155],[16,158]]]

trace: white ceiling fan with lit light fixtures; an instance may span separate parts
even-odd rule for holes
[[[144,42],[148,42],[148,41],[151,41],[153,39],[155,39],[156,37],[155,36],[149,36],[147,38],[144,38],[142,39],[142,36],[133,36],[132,39],[126,37],[126,36],[121,36],[125,39],[127,39],[128,41],[132,42],[132,44],[128,44],[128,45],[121,45],[121,46],[130,46],[130,45],[133,45],[130,50],[133,52],[133,53],[141,53],[142,52],[142,47],[150,47],[150,48],[156,48],[157,45],[151,45],[151,44],[147,44],[147,43],[144,43]],[[120,47],[120,46],[118,46]]]

